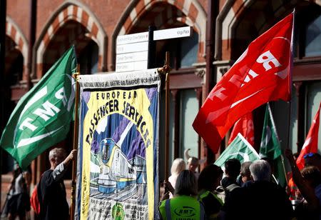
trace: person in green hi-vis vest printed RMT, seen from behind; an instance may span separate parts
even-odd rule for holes
[[[158,207],[161,219],[205,219],[203,205],[195,198],[198,182],[192,171],[183,170],[178,175],[173,199],[161,201]]]

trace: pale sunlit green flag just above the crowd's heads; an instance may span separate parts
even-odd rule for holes
[[[238,159],[242,164],[246,161],[256,161],[260,159],[260,156],[253,149],[253,146],[239,133],[225,151],[220,154],[220,157],[218,157],[214,164],[224,167],[225,161],[233,158]]]

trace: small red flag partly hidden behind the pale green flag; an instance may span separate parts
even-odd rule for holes
[[[242,134],[244,138],[252,146],[254,145],[254,125],[252,112],[243,115],[238,121],[235,122],[232,132],[230,133],[230,139],[228,145],[238,136],[238,133]]]

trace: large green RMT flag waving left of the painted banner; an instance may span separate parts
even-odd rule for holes
[[[72,46],[25,94],[12,112],[0,145],[26,169],[33,159],[66,138],[73,119],[76,54]]]

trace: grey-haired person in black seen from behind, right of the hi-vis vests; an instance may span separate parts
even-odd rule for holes
[[[254,161],[250,173],[253,184],[230,194],[222,219],[292,219],[294,213],[285,190],[270,181],[270,164]]]

